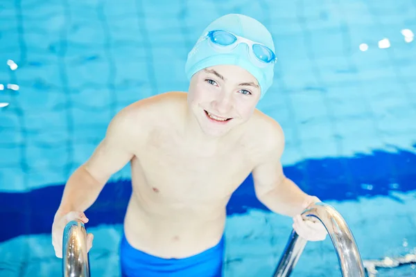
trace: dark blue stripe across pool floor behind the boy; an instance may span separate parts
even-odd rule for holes
[[[306,193],[325,201],[415,190],[415,168],[416,154],[397,150],[349,158],[309,159],[285,167],[284,172]],[[28,193],[0,193],[0,218],[5,225],[0,228],[0,242],[17,235],[50,233],[63,188],[59,184]],[[130,180],[109,182],[86,212],[88,226],[122,223],[130,194]],[[245,213],[249,208],[267,210],[254,195],[251,175],[232,195],[227,214]]]

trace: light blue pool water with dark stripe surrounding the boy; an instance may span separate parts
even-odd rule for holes
[[[284,129],[286,175],[340,211],[363,259],[416,251],[415,1],[15,0],[0,3],[0,276],[61,274],[50,231],[65,181],[117,111],[187,91],[188,51],[231,12],[275,38],[258,108]],[[126,166],[87,211],[92,276],[119,276],[129,180]],[[271,276],[291,219],[259,203],[251,176],[227,215],[225,277]],[[340,276],[329,238],[307,244],[293,276]]]

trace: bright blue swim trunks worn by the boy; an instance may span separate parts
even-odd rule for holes
[[[164,259],[133,248],[121,239],[120,262],[123,277],[221,277],[224,237],[210,249],[189,258]]]

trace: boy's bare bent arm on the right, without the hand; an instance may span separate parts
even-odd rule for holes
[[[317,198],[304,193],[284,175],[280,162],[284,151],[284,133],[281,127],[275,123],[263,137],[268,138],[263,144],[262,152],[265,154],[252,172],[257,198],[270,211],[291,217],[299,215],[312,199]]]

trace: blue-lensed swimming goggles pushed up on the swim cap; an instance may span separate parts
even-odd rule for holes
[[[275,63],[277,61],[275,53],[267,46],[253,42],[244,37],[239,37],[238,35],[234,35],[225,30],[211,30],[207,33],[205,39],[210,42],[211,46],[215,48],[216,51],[220,52],[231,52],[236,46],[239,46],[239,44],[245,43],[248,45],[249,55],[254,55],[260,62],[259,66]]]

